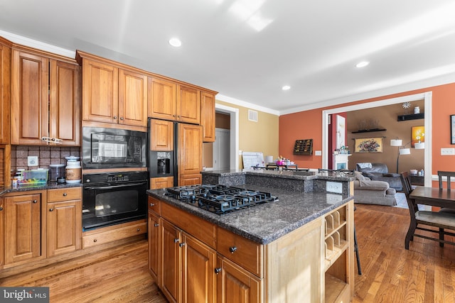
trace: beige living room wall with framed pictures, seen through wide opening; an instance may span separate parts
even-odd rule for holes
[[[424,101],[412,101],[408,114],[414,113],[414,106],[420,107],[420,112],[424,113]],[[358,111],[350,111],[347,113],[346,130],[348,133],[349,150],[352,156],[349,157],[349,168],[355,169],[355,163],[358,162],[380,162],[385,163],[389,172],[396,172],[397,169],[397,153],[398,148],[390,146],[390,139],[402,139],[403,145],[411,141],[411,129],[413,126],[424,126],[424,119],[397,121],[397,116],[405,114],[402,104],[392,104],[388,106],[376,107],[373,109],[362,109]],[[353,133],[359,131],[359,128],[370,121],[376,121],[378,128],[385,131],[375,131],[370,133]],[[355,153],[355,138],[383,138],[382,153]],[[399,163],[399,172],[408,171],[411,169],[421,170],[424,167],[424,150],[416,150],[411,148],[411,144],[406,145],[406,148],[411,149],[410,155],[401,155]]]

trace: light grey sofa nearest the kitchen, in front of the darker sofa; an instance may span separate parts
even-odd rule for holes
[[[395,199],[397,191],[387,182],[370,180],[360,172],[354,172],[354,178],[354,203],[397,205]]]

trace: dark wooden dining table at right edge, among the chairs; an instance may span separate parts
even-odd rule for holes
[[[414,199],[415,204],[455,209],[455,190],[417,186],[410,193],[410,198]]]

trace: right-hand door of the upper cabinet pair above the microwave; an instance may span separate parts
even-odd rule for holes
[[[147,77],[119,69],[119,123],[147,126]]]

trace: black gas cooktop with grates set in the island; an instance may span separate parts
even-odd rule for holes
[[[278,201],[278,197],[272,196],[269,192],[219,184],[171,187],[166,190],[166,195],[188,204],[194,204],[215,214],[225,214],[256,204]]]

